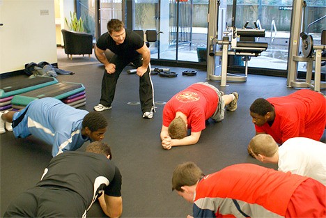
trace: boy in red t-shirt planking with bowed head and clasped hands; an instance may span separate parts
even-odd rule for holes
[[[199,141],[205,129],[205,120],[216,122],[224,119],[224,107],[235,111],[238,93],[223,95],[215,86],[208,83],[192,84],[169,100],[163,109],[161,140],[164,149],[173,146],[188,146]],[[187,129],[191,134],[187,136]]]

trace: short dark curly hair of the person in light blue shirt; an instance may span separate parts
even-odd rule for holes
[[[96,111],[91,111],[84,117],[83,123],[81,123],[82,128],[88,127],[91,132],[97,131],[98,129],[103,129],[107,127],[107,120],[102,114]]]

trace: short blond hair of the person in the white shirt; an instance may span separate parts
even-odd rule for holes
[[[252,138],[248,146],[254,155],[272,157],[277,153],[279,146],[269,134],[258,134]]]

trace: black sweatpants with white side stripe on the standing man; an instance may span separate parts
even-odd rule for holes
[[[111,106],[114,100],[116,84],[125,66],[130,62],[134,63],[137,68],[143,64],[140,54],[134,57],[134,59],[123,59],[114,55],[109,62],[116,65],[116,72],[108,74],[107,70],[104,70],[100,104],[106,107]],[[141,111],[143,113],[150,111],[152,107],[154,107],[154,90],[152,79],[150,79],[150,67],[148,67],[146,73],[142,77],[139,77],[139,99],[141,102]]]

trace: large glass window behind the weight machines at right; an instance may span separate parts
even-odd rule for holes
[[[228,0],[228,24],[231,24],[233,1]],[[308,31],[320,44],[320,33],[325,29],[326,1],[308,0],[304,8],[302,31]],[[258,42],[268,42],[268,48],[261,56],[254,57],[248,62],[250,67],[287,70],[290,25],[292,15],[291,0],[237,0],[235,26],[242,28],[249,21],[249,27],[265,29],[265,38],[256,38]],[[299,21],[292,21],[299,22]],[[315,40],[314,40],[315,41]],[[242,61],[234,63],[243,65]],[[298,70],[304,70],[304,63]]]

